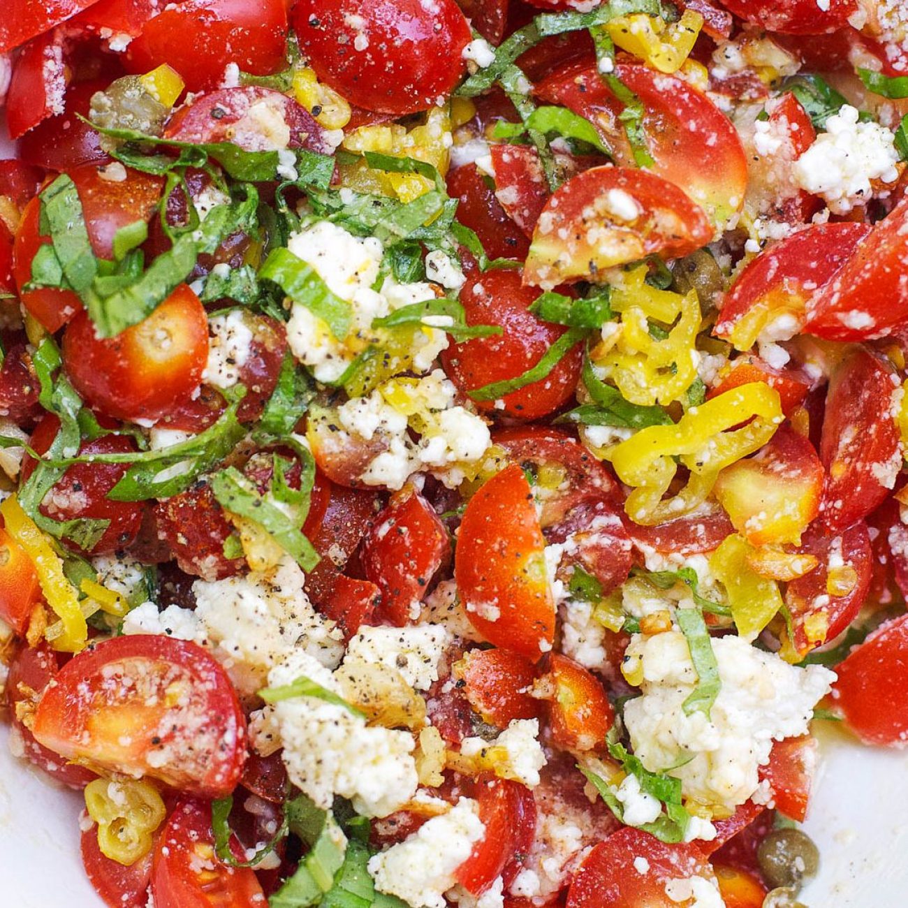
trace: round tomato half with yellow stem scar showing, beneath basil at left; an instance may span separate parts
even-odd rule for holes
[[[185,284],[113,338],[99,338],[82,313],[64,334],[63,361],[92,407],[117,419],[155,419],[199,387],[208,361],[208,317]]]

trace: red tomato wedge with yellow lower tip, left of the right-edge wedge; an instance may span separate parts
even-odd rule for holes
[[[750,262],[725,296],[713,333],[749,350],[761,333],[793,337],[817,287],[839,271],[871,229],[866,224],[814,224],[773,243]]]

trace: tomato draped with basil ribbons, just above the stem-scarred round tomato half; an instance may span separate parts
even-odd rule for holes
[[[121,166],[117,164],[117,168]],[[121,227],[148,221],[163,189],[163,177],[126,169],[125,180],[119,180],[120,173],[120,170],[108,172],[104,165],[86,164],[69,174],[82,202],[92,249],[101,259],[114,257],[114,235]],[[25,206],[22,222],[15,233],[13,275],[25,309],[47,331],[58,331],[82,309],[78,296],[66,290],[22,291],[32,279],[35,253],[40,246],[51,242],[39,232],[40,214],[39,199],[35,198]]]

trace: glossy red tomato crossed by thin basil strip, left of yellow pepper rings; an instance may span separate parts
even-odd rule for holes
[[[541,321],[528,311],[539,291],[521,284],[517,270],[472,272],[460,291],[469,325],[500,325],[504,333],[452,343],[441,353],[450,380],[469,395],[491,381],[516,378],[535,366],[566,331]],[[558,410],[574,394],[583,351],[577,344],[562,357],[548,377],[504,395],[504,408],[494,400],[478,400],[479,410],[529,421]]]

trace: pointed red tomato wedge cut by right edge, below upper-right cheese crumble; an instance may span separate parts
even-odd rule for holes
[[[908,321],[908,198],[854,249],[834,278],[807,302],[809,331],[827,341],[881,338]]]

